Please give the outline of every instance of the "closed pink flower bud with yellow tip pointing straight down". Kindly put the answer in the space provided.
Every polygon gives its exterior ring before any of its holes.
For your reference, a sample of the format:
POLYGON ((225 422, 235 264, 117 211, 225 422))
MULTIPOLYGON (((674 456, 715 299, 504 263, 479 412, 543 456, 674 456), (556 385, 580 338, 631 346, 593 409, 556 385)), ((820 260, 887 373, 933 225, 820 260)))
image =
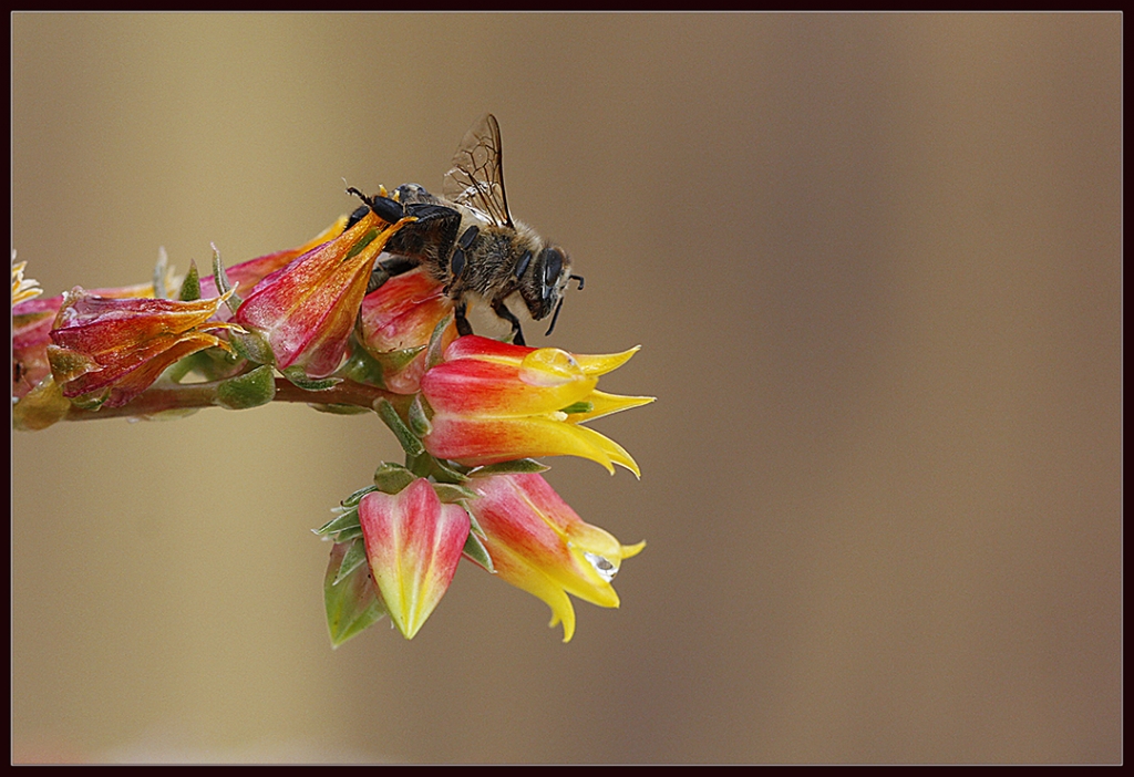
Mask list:
POLYGON ((413 639, 457 571, 468 513, 458 504, 442 504, 429 480, 420 478, 397 494, 364 496, 358 523, 390 618, 413 639))

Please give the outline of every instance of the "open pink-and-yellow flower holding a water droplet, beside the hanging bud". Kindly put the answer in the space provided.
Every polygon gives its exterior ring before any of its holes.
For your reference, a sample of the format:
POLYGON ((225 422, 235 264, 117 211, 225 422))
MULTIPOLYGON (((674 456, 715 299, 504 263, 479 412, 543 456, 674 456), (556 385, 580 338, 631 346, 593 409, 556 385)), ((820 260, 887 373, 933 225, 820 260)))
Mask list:
POLYGON ((479 495, 467 506, 496 573, 551 607, 550 625, 564 624, 564 642, 575 633, 568 594, 600 607, 618 606, 610 581, 644 541, 621 545, 584 522, 536 473, 474 475, 466 485, 479 495))

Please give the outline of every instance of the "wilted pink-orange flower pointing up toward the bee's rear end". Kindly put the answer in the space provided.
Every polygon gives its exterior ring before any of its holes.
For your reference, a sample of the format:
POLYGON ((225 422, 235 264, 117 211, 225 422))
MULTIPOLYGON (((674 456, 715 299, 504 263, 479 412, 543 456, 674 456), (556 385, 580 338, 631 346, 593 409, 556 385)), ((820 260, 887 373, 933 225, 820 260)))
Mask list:
POLYGON ((388 224, 373 212, 346 232, 264 278, 232 317, 256 332, 285 375, 318 379, 346 353, 375 257, 404 222, 388 224))

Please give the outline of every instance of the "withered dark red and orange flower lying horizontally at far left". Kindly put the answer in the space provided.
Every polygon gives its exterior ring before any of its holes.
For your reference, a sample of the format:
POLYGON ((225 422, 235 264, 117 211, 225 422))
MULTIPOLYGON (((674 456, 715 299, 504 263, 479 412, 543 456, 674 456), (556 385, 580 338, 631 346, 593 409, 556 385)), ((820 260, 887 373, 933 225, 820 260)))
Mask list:
POLYGON ((46 347, 54 382, 81 407, 126 404, 175 361, 229 350, 211 331, 234 326, 210 321, 226 298, 108 298, 76 287, 64 294, 46 347))

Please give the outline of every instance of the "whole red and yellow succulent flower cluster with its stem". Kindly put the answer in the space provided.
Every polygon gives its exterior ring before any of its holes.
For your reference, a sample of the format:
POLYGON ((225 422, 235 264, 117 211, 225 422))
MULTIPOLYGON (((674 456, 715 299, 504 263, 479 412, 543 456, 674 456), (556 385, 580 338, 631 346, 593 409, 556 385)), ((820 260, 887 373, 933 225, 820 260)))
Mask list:
POLYGON ((535 459, 576 455, 640 475, 625 449, 584 426, 652 401, 596 387, 637 349, 585 356, 458 336, 454 300, 424 267, 369 290, 411 221, 367 208, 228 270, 214 250, 210 276, 191 266, 175 283, 162 259, 150 284, 50 299, 36 298, 14 256, 14 425, 273 400, 376 412, 406 459, 382 462, 316 530, 332 543, 332 643, 386 615, 413 638, 463 557, 545 601, 568 641, 568 595, 617 607, 611 580, 645 544, 579 519, 535 459))

